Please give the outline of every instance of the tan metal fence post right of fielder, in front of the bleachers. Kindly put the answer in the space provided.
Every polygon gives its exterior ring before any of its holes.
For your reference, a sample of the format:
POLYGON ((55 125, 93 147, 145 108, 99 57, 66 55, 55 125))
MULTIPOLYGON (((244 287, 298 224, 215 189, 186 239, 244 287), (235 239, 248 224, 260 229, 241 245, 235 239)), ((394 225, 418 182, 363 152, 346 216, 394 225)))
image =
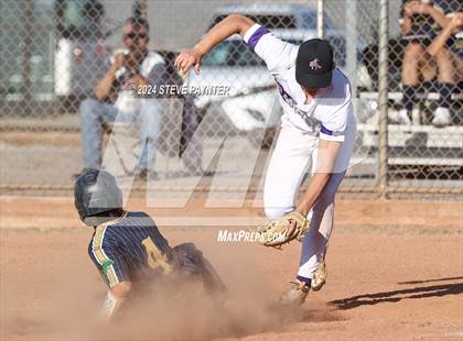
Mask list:
POLYGON ((388 29, 389 9, 388 0, 379 0, 379 132, 378 132, 378 158, 379 174, 378 187, 383 198, 387 196, 388 186, 388 29))

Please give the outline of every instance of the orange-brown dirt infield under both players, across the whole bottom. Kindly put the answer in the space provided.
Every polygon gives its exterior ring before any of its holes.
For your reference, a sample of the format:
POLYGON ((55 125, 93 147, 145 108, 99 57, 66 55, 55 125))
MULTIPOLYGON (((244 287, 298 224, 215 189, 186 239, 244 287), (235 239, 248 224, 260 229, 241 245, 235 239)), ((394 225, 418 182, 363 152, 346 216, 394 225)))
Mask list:
MULTIPOLYGON (((461 204, 337 202, 327 284, 295 311, 273 299, 294 275, 299 243, 277 251, 219 243, 217 228, 161 226, 172 245, 203 250, 228 285, 229 306, 217 309, 192 289, 160 295, 123 326, 101 327, 106 288, 86 254, 91 229, 82 228, 72 200, 0 199, 1 340, 463 340, 461 204)), ((205 211, 195 202, 151 213, 205 211)))

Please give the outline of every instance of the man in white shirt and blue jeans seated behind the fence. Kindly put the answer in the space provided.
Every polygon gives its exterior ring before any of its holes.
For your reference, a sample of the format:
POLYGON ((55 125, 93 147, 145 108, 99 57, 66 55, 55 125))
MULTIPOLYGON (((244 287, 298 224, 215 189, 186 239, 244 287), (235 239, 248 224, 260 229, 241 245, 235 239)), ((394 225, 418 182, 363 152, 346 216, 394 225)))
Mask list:
POLYGON ((129 18, 123 25, 126 51, 116 54, 105 65, 106 74, 95 88, 95 97, 79 108, 83 158, 86 168, 101 165, 101 123, 116 120, 139 123, 142 153, 139 176, 152 169, 160 131, 160 102, 157 98, 137 98, 133 89, 159 86, 169 81, 166 63, 161 55, 148 51, 149 23, 142 18, 129 18))

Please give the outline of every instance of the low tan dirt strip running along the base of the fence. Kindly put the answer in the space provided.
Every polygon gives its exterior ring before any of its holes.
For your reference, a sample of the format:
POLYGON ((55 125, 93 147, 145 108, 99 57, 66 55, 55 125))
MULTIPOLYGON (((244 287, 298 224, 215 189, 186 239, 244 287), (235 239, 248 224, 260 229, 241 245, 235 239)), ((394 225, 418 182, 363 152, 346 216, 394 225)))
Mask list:
MULTIPOLYGON (((127 205, 128 209, 143 210, 157 217, 160 226, 177 226, 172 221, 179 222, 180 218, 189 218, 195 227, 205 226, 224 217, 226 219, 263 217, 261 204, 257 206, 258 208, 254 207, 252 201, 245 201, 243 208, 239 209, 205 208, 203 198, 193 198, 183 208, 152 208, 147 207, 144 199, 140 197, 130 198, 127 205)), ((360 229, 370 226, 463 229, 462 204, 460 201, 336 200, 335 224, 360 229)), ((0 228, 51 230, 82 227, 72 197, 0 196, 0 228)))

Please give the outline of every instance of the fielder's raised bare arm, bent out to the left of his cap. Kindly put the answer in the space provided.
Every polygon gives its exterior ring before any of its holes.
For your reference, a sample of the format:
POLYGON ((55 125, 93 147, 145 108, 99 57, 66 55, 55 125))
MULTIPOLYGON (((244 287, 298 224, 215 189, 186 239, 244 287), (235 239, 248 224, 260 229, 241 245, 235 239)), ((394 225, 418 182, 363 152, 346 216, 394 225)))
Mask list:
POLYGON ((195 73, 198 74, 201 61, 215 45, 235 33, 244 36, 254 24, 252 20, 244 15, 228 15, 212 28, 193 48, 182 51, 175 59, 175 67, 186 74, 194 66, 195 73))

